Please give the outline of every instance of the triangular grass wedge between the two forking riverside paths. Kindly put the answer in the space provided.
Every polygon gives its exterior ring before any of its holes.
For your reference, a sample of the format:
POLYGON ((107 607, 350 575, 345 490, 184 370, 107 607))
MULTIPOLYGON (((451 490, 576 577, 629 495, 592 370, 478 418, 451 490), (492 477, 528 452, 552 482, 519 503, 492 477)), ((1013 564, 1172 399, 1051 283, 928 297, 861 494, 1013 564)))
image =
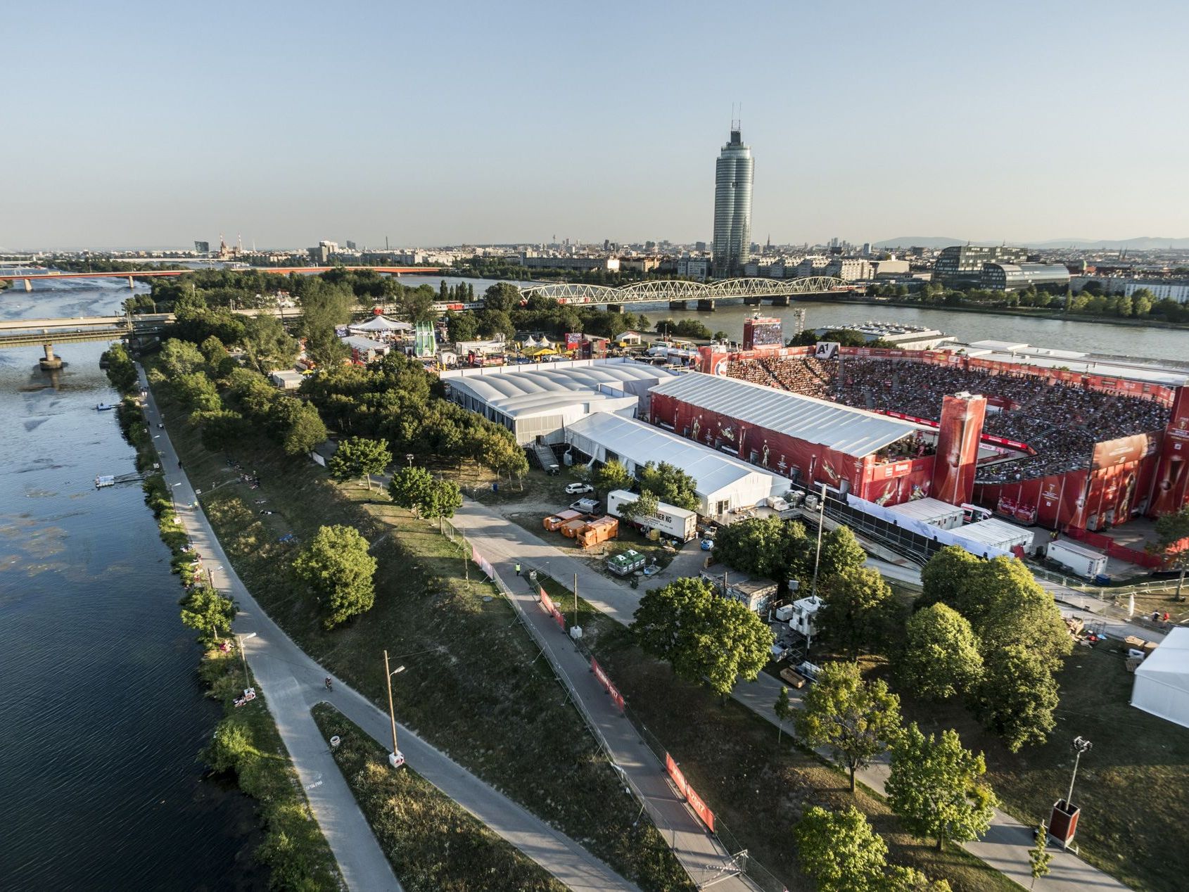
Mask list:
POLYGON ((314 706, 314 721, 327 741, 341 739, 334 761, 409 892, 565 892, 542 867, 415 771, 394 771, 388 750, 334 706, 314 706))

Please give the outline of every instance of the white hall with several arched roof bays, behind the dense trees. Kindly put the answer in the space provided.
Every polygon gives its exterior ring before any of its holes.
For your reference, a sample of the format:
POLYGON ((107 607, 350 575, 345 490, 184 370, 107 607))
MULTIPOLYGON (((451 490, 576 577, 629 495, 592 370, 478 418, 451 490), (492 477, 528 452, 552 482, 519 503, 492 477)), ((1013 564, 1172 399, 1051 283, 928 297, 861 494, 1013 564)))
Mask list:
POLYGON ((591 413, 634 417, 647 412, 649 388, 672 376, 617 358, 452 369, 441 379, 451 400, 503 425, 527 446, 564 442, 566 426, 591 413))

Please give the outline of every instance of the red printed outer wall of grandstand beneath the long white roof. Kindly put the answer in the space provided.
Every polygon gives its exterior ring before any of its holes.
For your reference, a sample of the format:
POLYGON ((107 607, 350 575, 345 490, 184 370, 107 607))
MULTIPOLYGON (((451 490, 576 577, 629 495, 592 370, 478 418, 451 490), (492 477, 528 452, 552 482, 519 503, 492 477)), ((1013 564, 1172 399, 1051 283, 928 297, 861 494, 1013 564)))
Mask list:
POLYGON ((653 394, 652 419, 675 433, 743 461, 810 483, 835 489, 845 485, 860 498, 879 504, 899 504, 929 495, 933 457, 876 463, 873 456, 849 456, 795 436, 741 423, 697 406, 653 394), (754 461, 753 461, 754 457, 754 461))

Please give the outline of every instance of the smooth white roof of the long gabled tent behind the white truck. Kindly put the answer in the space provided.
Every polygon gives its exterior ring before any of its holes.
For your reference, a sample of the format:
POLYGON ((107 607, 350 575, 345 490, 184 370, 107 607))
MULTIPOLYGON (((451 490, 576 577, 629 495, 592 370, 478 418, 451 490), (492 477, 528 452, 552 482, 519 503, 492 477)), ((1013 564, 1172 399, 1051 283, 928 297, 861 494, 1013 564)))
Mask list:
POLYGON ((763 482, 770 491, 779 479, 693 440, 622 415, 605 412, 587 415, 568 425, 566 432, 567 442, 571 433, 585 436, 640 467, 649 461, 668 461, 693 477, 698 496, 709 502, 715 501, 715 494, 741 480, 763 482))

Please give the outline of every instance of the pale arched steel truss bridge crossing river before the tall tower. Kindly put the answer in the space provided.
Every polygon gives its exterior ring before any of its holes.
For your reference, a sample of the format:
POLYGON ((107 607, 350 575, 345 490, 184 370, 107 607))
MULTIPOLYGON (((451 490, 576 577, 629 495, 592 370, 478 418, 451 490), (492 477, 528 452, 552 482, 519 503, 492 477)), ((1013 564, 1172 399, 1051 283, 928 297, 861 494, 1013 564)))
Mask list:
POLYGON ((761 300, 769 299, 773 306, 787 307, 794 295, 853 291, 856 288, 861 288, 861 285, 851 285, 831 276, 805 276, 789 279, 728 278, 710 284, 678 279, 649 279, 618 288, 566 282, 522 288, 521 294, 526 299, 535 295, 552 297, 559 303, 605 303, 609 307, 667 301, 669 309, 685 309, 691 301, 694 301, 698 309, 707 310, 713 309, 715 301, 718 300, 742 299, 744 303, 759 306, 761 300))

